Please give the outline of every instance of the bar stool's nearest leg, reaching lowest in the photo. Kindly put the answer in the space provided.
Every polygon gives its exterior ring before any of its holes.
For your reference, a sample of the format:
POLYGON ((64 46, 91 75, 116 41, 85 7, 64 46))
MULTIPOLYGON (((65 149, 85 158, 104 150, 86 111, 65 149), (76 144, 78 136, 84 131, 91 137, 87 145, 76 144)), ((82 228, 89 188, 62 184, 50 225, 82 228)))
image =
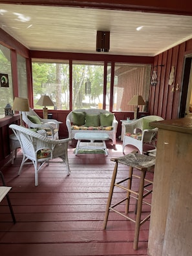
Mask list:
POLYGON ((139 239, 139 233, 140 233, 140 221, 141 221, 141 215, 142 215, 142 201, 143 201, 146 171, 147 169, 142 169, 141 176, 140 176, 140 187, 138 191, 138 203, 137 203, 136 221, 135 221, 135 228, 134 228, 134 242, 133 242, 134 250, 138 249, 138 239, 139 239))

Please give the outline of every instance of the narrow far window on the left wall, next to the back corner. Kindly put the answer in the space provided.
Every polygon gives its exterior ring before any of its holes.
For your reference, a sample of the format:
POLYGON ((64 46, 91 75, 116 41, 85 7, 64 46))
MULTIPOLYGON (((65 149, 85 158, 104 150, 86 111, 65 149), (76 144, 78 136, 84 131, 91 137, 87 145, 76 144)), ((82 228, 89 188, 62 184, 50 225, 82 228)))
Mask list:
POLYGON ((17 54, 17 76, 19 97, 28 98, 26 59, 17 54))

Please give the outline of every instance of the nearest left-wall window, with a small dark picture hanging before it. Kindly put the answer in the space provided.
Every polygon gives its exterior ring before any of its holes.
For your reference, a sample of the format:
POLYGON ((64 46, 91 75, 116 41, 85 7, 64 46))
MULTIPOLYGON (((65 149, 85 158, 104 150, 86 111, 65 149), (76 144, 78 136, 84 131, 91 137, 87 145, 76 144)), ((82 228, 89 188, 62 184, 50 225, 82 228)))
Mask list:
POLYGON ((10 50, 3 45, 0 45, 0 73, 8 74, 8 87, 0 87, 1 101, 0 101, 0 118, 5 116, 5 107, 7 103, 13 103, 13 89, 12 89, 12 69, 10 61, 10 50))

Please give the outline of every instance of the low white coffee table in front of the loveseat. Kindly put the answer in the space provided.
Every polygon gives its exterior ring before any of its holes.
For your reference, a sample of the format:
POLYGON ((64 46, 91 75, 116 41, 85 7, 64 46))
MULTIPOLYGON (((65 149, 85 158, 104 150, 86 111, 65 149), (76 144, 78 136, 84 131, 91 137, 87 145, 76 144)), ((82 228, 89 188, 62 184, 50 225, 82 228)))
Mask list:
POLYGON ((108 155, 105 140, 109 140, 107 133, 76 133, 74 138, 78 140, 76 145, 76 155, 79 149, 101 149, 108 155), (81 140, 89 140, 90 142, 81 142, 81 140), (102 141, 102 142, 100 142, 102 141))

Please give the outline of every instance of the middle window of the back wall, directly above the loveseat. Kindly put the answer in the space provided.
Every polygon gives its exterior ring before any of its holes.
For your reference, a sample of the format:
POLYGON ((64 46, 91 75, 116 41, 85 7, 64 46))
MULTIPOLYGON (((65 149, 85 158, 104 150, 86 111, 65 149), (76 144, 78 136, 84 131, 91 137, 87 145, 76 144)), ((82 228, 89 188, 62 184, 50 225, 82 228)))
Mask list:
POLYGON ((103 63, 72 65, 72 109, 103 108, 103 63))

